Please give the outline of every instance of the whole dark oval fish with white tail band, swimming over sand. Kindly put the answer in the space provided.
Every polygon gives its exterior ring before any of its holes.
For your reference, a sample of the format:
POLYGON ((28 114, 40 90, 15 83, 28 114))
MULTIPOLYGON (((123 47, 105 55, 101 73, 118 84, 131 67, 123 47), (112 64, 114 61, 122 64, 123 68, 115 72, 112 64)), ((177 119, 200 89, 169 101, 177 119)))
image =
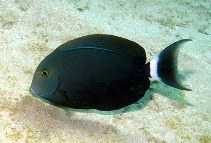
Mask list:
POLYGON ((191 39, 167 46, 150 62, 142 46, 108 34, 68 41, 37 66, 29 91, 61 108, 113 111, 140 100, 150 79, 173 88, 191 90, 180 81, 177 58, 191 39))

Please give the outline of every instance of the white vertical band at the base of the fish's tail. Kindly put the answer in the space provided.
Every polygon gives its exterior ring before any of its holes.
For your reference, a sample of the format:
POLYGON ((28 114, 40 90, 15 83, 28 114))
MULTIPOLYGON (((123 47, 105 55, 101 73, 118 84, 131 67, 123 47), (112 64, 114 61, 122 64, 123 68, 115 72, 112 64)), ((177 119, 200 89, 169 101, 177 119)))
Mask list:
POLYGON ((155 57, 150 61, 150 75, 152 77, 152 80, 161 81, 160 77, 158 77, 158 61, 159 56, 155 57))

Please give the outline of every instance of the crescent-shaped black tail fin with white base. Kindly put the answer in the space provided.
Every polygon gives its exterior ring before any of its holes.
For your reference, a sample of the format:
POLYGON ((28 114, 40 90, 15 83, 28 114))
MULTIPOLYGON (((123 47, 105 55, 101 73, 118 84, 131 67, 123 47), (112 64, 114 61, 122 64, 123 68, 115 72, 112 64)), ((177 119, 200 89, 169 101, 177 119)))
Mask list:
POLYGON ((155 80, 160 80, 172 87, 191 90, 185 87, 179 79, 177 58, 180 47, 190 39, 179 40, 168 47, 150 61, 150 75, 155 80))

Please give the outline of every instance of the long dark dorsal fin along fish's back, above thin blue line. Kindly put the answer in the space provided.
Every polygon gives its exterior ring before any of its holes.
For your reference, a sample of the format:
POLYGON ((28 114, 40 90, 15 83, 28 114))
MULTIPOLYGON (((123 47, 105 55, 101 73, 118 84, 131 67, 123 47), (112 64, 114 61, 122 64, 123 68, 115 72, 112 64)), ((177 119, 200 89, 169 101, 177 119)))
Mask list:
POLYGON ((139 44, 125 38, 106 34, 79 37, 59 46, 55 51, 77 47, 104 48, 125 55, 136 64, 145 64, 146 62, 145 50, 139 44))

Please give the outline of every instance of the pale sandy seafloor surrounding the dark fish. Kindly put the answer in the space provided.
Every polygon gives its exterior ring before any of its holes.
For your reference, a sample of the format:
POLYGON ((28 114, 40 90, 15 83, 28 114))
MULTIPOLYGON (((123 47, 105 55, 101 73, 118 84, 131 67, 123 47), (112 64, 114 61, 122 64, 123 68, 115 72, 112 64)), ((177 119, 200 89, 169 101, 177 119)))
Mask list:
POLYGON ((0 142, 211 142, 209 0, 0 0, 0 142), (114 34, 142 45, 148 61, 183 39, 179 72, 193 91, 152 82, 119 114, 66 113, 28 92, 39 62, 60 44, 114 34))

